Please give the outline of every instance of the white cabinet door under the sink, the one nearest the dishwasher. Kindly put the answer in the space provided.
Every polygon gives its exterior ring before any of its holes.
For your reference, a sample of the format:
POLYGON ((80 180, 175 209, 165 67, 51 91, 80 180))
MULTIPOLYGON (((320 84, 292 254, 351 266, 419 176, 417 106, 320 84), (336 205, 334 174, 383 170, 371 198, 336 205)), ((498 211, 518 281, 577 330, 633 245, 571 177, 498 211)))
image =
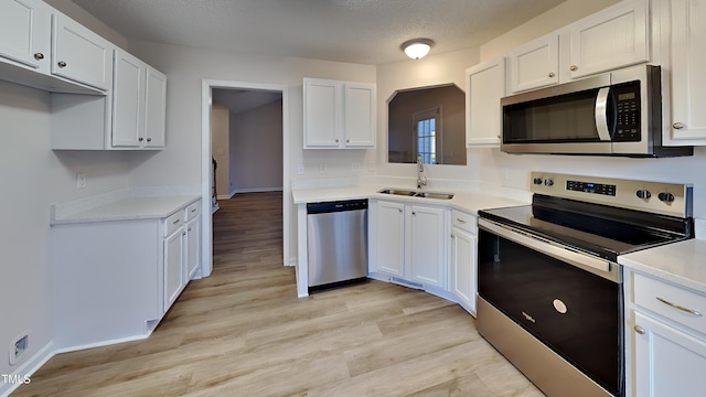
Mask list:
POLYGON ((405 276, 405 205, 377 202, 377 269, 387 275, 405 276))

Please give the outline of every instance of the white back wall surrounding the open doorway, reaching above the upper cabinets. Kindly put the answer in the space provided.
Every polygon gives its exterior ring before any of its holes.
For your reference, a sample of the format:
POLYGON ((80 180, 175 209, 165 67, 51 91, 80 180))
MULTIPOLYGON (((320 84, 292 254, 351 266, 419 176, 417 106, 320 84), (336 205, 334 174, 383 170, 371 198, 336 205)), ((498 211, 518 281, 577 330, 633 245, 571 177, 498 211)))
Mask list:
MULTIPOLYGON (((332 150, 302 149, 302 78, 331 78, 375 83, 375 66, 292 57, 274 57, 226 53, 207 49, 185 47, 148 42, 130 42, 129 51, 167 74, 167 148, 139 164, 129 173, 131 185, 184 185, 199 192, 201 186, 201 88, 203 79, 248 84, 272 84, 289 87, 288 178, 297 184, 312 179, 350 178, 351 158, 365 155, 364 150, 346 153, 332 150), (343 159, 343 161, 341 160, 343 159), (320 174, 318 164, 331 164, 320 174), (304 164, 304 175, 297 165, 304 164)), ((288 200, 290 197, 287 197, 288 200)), ((290 253, 297 255, 297 212, 290 207, 290 253)), ((285 260, 289 261, 288 258, 285 260)))

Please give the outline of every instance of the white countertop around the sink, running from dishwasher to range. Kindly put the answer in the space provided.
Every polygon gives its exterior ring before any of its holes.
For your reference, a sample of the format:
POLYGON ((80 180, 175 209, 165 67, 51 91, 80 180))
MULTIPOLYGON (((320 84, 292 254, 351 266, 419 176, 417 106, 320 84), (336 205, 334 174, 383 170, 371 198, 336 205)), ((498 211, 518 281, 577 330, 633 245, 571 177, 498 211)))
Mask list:
POLYGON ((339 200, 356 200, 356 198, 375 198, 375 200, 394 200, 410 203, 425 203, 435 205, 446 205, 451 208, 461 210, 477 214, 479 210, 499 208, 515 205, 525 205, 528 202, 512 200, 499 195, 466 192, 453 190, 436 190, 421 189, 422 192, 440 192, 453 193, 451 200, 425 198, 425 197, 407 197, 399 195, 391 195, 377 193, 378 190, 388 186, 362 185, 347 187, 324 187, 324 189, 296 189, 292 190, 295 204, 329 202, 339 200))

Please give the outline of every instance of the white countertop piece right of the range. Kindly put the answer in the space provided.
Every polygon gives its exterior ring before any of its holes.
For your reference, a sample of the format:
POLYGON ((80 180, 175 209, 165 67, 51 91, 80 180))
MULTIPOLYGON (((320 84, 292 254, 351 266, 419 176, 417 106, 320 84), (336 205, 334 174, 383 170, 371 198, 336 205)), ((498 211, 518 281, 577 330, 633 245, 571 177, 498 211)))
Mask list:
POLYGON ((706 240, 689 239, 618 257, 618 264, 706 293, 706 240))

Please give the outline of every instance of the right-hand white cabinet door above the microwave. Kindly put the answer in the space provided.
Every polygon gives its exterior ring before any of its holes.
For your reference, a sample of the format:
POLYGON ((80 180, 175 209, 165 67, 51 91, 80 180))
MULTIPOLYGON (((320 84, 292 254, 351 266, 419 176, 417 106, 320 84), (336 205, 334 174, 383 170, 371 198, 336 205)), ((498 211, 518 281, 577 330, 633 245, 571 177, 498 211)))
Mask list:
POLYGON ((623 1, 570 25, 570 78, 649 61, 646 0, 623 1))

